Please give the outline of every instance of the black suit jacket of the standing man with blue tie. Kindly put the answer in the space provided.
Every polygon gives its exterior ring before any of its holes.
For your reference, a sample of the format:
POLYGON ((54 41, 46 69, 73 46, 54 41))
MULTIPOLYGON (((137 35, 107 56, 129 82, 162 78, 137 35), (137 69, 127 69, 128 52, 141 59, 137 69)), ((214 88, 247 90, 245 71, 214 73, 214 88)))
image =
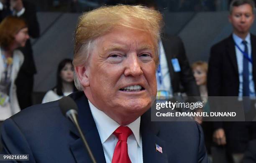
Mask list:
MULTIPOLYGON (((253 60, 253 80, 255 81, 256 36, 252 34, 251 49, 253 60)), ((232 35, 213 45, 210 50, 207 88, 209 96, 238 96, 239 74, 235 42, 232 35)), ((232 103, 227 103, 226 101, 223 101, 223 99, 219 99, 217 105, 214 105, 214 107, 213 105, 210 105, 211 110, 215 109, 216 111, 220 111, 220 108, 222 108, 221 110, 236 110, 243 114, 243 110, 241 112, 242 106, 237 107, 241 105, 241 103, 236 100, 236 97, 234 97, 232 103)), ((209 102, 211 104, 210 99, 211 98, 209 98, 209 102)), ((240 113, 239 115, 241 115, 240 113)), ((246 132, 246 124, 247 123, 243 122, 222 122, 220 120, 213 123, 213 129, 216 130, 218 128, 223 128, 227 137, 227 148, 231 151, 241 153, 246 148, 246 140, 251 137, 251 135, 248 135, 249 133, 246 132), (238 144, 232 143, 233 140, 239 140, 238 144)))

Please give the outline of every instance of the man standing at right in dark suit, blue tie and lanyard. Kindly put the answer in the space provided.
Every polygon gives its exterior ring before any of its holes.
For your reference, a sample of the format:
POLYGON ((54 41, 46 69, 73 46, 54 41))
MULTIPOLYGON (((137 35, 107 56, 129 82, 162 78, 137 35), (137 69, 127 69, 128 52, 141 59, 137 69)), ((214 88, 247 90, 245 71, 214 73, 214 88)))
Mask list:
MULTIPOLYGON (((236 96, 233 103, 243 105, 245 115, 251 114, 247 108, 255 110, 254 100, 246 102, 255 98, 256 37, 249 33, 254 21, 254 7, 252 0, 233 0, 231 3, 229 21, 233 25, 233 34, 212 46, 207 78, 209 96, 236 96), (250 103, 252 106, 247 106, 250 103)), ((227 144, 229 153, 241 156, 248 141, 256 137, 255 123, 251 122, 215 122, 214 128, 214 141, 218 145, 227 144)))

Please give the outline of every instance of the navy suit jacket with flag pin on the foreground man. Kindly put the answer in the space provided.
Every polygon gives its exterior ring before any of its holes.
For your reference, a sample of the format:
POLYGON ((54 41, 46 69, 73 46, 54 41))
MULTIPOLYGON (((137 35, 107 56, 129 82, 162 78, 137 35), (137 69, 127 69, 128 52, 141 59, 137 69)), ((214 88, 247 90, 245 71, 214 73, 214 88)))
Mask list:
MULTIPOLYGON (((98 163, 105 162, 100 136, 83 92, 73 93, 78 121, 98 163)), ((141 116, 144 163, 207 163, 204 138, 195 122, 151 122, 141 116), (156 151, 156 144, 163 153, 156 151)), ((89 155, 73 123, 61 114, 59 102, 35 105, 5 120, 3 153, 29 154, 30 163, 87 163, 89 155)), ((24 162, 25 163, 25 162, 24 162)))

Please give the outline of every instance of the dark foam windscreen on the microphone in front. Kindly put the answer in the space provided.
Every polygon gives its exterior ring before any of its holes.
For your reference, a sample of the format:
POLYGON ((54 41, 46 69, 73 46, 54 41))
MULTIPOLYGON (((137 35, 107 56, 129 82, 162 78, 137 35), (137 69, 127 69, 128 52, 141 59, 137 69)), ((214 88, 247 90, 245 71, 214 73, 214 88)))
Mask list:
POLYGON ((69 110, 76 110, 77 111, 77 104, 74 102, 74 100, 69 97, 65 96, 59 100, 59 107, 61 109, 61 113, 66 116, 66 113, 69 110))

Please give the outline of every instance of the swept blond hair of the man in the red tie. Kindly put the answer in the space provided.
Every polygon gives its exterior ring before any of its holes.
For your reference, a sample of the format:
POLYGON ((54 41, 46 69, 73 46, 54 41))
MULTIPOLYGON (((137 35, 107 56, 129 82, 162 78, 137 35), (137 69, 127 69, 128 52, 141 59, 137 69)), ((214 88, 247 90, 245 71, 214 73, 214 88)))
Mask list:
MULTIPOLYGON (((158 56, 162 26, 163 18, 158 11, 139 5, 104 6, 84 13, 79 17, 75 30, 73 65, 86 64, 92 41, 118 27, 133 28, 150 34, 154 39, 155 54, 158 56)), ((158 64, 158 62, 156 57, 155 63, 158 64)), ((77 89, 82 90, 76 73, 74 81, 77 89)))

